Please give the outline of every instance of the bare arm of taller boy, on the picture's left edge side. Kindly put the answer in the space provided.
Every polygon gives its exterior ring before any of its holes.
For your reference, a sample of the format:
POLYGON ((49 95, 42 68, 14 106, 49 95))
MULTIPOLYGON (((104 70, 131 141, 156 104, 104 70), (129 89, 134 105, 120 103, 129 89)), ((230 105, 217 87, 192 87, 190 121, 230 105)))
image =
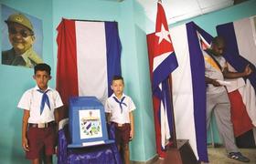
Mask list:
POLYGON ((29 151, 28 141, 27 141, 27 121, 29 118, 29 110, 24 110, 22 119, 22 148, 29 151))

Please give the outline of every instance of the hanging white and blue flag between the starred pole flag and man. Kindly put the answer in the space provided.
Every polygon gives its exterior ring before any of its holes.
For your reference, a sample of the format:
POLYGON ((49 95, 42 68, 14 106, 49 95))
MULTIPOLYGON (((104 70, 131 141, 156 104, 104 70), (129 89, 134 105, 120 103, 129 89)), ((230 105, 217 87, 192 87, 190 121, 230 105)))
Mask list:
MULTIPOLYGON (((154 52, 150 46, 153 36, 147 36, 149 52, 154 52)), ((202 51, 209 46, 213 37, 193 22, 171 28, 171 37, 178 63, 172 72, 176 138, 188 139, 197 160, 208 162, 205 63, 202 51)))

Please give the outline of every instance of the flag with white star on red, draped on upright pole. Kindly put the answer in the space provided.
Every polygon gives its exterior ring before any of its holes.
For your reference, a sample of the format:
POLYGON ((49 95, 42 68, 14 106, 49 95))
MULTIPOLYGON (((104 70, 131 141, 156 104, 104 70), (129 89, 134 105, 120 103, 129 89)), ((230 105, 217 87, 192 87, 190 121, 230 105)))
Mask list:
POLYGON ((155 33, 147 37, 154 101, 156 150, 160 157, 165 157, 165 146, 169 144, 174 130, 169 76, 178 65, 161 2, 157 3, 155 33))

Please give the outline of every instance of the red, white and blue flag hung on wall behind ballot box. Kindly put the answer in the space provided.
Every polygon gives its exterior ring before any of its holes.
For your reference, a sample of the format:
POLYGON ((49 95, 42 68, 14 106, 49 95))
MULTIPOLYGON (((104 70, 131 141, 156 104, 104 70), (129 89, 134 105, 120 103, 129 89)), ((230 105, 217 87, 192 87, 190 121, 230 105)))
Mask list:
POLYGON ((94 96, 104 104, 121 75, 121 42, 116 22, 62 19, 58 28, 57 90, 68 117, 71 96, 94 96))

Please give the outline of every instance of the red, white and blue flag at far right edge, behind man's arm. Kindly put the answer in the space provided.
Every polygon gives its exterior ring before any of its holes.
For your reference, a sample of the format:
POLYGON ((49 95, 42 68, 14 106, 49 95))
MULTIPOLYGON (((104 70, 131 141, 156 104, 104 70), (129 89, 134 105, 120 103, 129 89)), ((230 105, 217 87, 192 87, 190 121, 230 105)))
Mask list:
MULTIPOLYGON (((217 26, 219 36, 226 41, 224 57, 232 71, 243 72, 250 65, 249 77, 232 79, 227 87, 231 103, 235 137, 253 128, 256 140, 256 17, 251 16, 235 22, 217 26)), ((254 141, 255 142, 255 141, 254 141)))

